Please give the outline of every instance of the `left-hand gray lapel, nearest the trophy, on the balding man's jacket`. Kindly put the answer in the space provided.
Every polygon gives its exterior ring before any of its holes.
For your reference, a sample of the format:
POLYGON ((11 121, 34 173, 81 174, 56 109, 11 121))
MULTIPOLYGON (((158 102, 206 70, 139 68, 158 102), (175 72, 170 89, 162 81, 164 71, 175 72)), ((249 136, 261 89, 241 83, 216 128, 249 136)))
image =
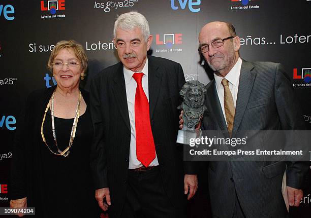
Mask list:
POLYGON ((209 89, 207 90, 208 99, 205 99, 205 102, 210 101, 210 107, 215 115, 216 123, 219 125, 220 129, 223 131, 226 137, 229 137, 229 132, 226 124, 226 120, 223 115, 222 106, 219 101, 219 97, 216 91, 216 83, 213 80, 212 84, 210 85, 209 89))

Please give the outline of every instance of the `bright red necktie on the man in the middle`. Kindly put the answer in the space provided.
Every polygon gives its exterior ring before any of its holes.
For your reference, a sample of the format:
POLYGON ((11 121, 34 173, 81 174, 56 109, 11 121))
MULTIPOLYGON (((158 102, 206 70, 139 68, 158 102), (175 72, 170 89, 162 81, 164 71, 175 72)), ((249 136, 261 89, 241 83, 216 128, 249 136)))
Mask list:
POLYGON ((135 73, 134 80, 137 83, 135 94, 135 130, 136 130, 136 156, 145 166, 155 158, 155 147, 150 125, 149 102, 142 88, 143 73, 135 73))

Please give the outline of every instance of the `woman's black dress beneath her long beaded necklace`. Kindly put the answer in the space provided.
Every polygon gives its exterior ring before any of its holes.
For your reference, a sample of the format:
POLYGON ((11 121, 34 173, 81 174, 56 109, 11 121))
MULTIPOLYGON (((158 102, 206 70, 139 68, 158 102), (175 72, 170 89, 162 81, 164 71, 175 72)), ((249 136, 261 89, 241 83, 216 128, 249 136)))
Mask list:
MULTIPOLYGON (((74 119, 54 117, 58 148, 64 151, 69 145, 74 119)), ((52 135, 51 112, 46 114, 43 126, 46 142, 56 152, 52 135)), ((42 143, 40 147, 43 190, 48 217, 99 217, 89 164, 93 129, 88 107, 79 117, 75 139, 68 157, 56 156, 42 143)))

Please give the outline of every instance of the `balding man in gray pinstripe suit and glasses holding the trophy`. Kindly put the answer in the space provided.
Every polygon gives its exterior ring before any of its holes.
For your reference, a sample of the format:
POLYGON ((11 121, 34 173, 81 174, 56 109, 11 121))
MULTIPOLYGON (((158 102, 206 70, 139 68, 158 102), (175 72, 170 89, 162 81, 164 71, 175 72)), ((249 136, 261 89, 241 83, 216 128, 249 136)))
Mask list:
MULTIPOLYGON (((214 71, 214 80, 206 85, 208 113, 201 129, 220 130, 228 138, 240 130, 296 130, 303 125, 291 81, 281 64, 242 60, 240 39, 232 24, 206 24, 199 42, 200 53, 214 71)), ((182 128, 182 119, 180 124, 182 128)), ((287 217, 281 193, 285 170, 285 201, 298 206, 307 163, 210 161, 208 185, 213 217, 287 217)))

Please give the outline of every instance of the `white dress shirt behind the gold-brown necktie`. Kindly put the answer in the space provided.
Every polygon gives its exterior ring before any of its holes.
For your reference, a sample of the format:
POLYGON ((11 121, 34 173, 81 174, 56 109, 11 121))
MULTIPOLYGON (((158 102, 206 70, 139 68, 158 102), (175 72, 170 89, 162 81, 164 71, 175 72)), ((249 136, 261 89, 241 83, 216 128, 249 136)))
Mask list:
MULTIPOLYGON (((239 89, 241 66, 242 66, 242 59, 238 58, 237 62, 233 66, 233 68, 228 72, 228 74, 225 77, 225 79, 227 79, 229 81, 229 89, 230 89, 231 94, 232 94, 232 98, 233 98, 233 102, 234 102, 234 107, 236 106, 236 99, 237 99, 237 94, 238 94, 238 89, 239 89)), ((219 76, 217 76, 215 74, 214 74, 214 78, 215 78, 216 90, 217 90, 218 98, 219 98, 219 101, 220 101, 221 106, 222 106, 223 115, 224 115, 226 124, 228 126, 227 119, 226 119, 226 114, 225 114, 225 106, 224 106, 225 90, 224 90, 224 86, 222 84, 222 80, 224 78, 223 77, 219 77, 219 76)))

